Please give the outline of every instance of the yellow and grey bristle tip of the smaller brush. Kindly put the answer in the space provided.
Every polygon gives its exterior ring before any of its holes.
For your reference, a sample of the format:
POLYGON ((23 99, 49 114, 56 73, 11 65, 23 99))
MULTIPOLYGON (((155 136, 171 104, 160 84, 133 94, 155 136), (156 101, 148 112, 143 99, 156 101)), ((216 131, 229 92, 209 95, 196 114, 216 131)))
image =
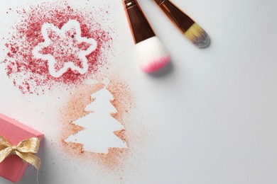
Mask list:
POLYGON ((207 35, 205 30, 203 30, 197 23, 190 26, 190 28, 185 32, 185 37, 200 48, 205 48, 210 45, 209 35, 207 35))

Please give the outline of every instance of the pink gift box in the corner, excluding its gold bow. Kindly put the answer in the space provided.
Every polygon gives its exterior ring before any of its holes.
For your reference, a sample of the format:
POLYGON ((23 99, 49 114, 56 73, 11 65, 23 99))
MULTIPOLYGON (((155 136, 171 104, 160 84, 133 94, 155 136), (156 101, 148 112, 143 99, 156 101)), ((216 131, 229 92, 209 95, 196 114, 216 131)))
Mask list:
MULTIPOLYGON (((38 137, 40 141, 43 139, 42 133, 11 119, 11 117, 2 115, 1 113, 0 134, 13 145, 17 145, 19 142, 25 139, 31 139, 32 137, 38 137)), ((27 167, 28 163, 24 163, 22 159, 16 155, 10 155, 0 163, 0 176, 16 183, 21 180, 27 167)))

